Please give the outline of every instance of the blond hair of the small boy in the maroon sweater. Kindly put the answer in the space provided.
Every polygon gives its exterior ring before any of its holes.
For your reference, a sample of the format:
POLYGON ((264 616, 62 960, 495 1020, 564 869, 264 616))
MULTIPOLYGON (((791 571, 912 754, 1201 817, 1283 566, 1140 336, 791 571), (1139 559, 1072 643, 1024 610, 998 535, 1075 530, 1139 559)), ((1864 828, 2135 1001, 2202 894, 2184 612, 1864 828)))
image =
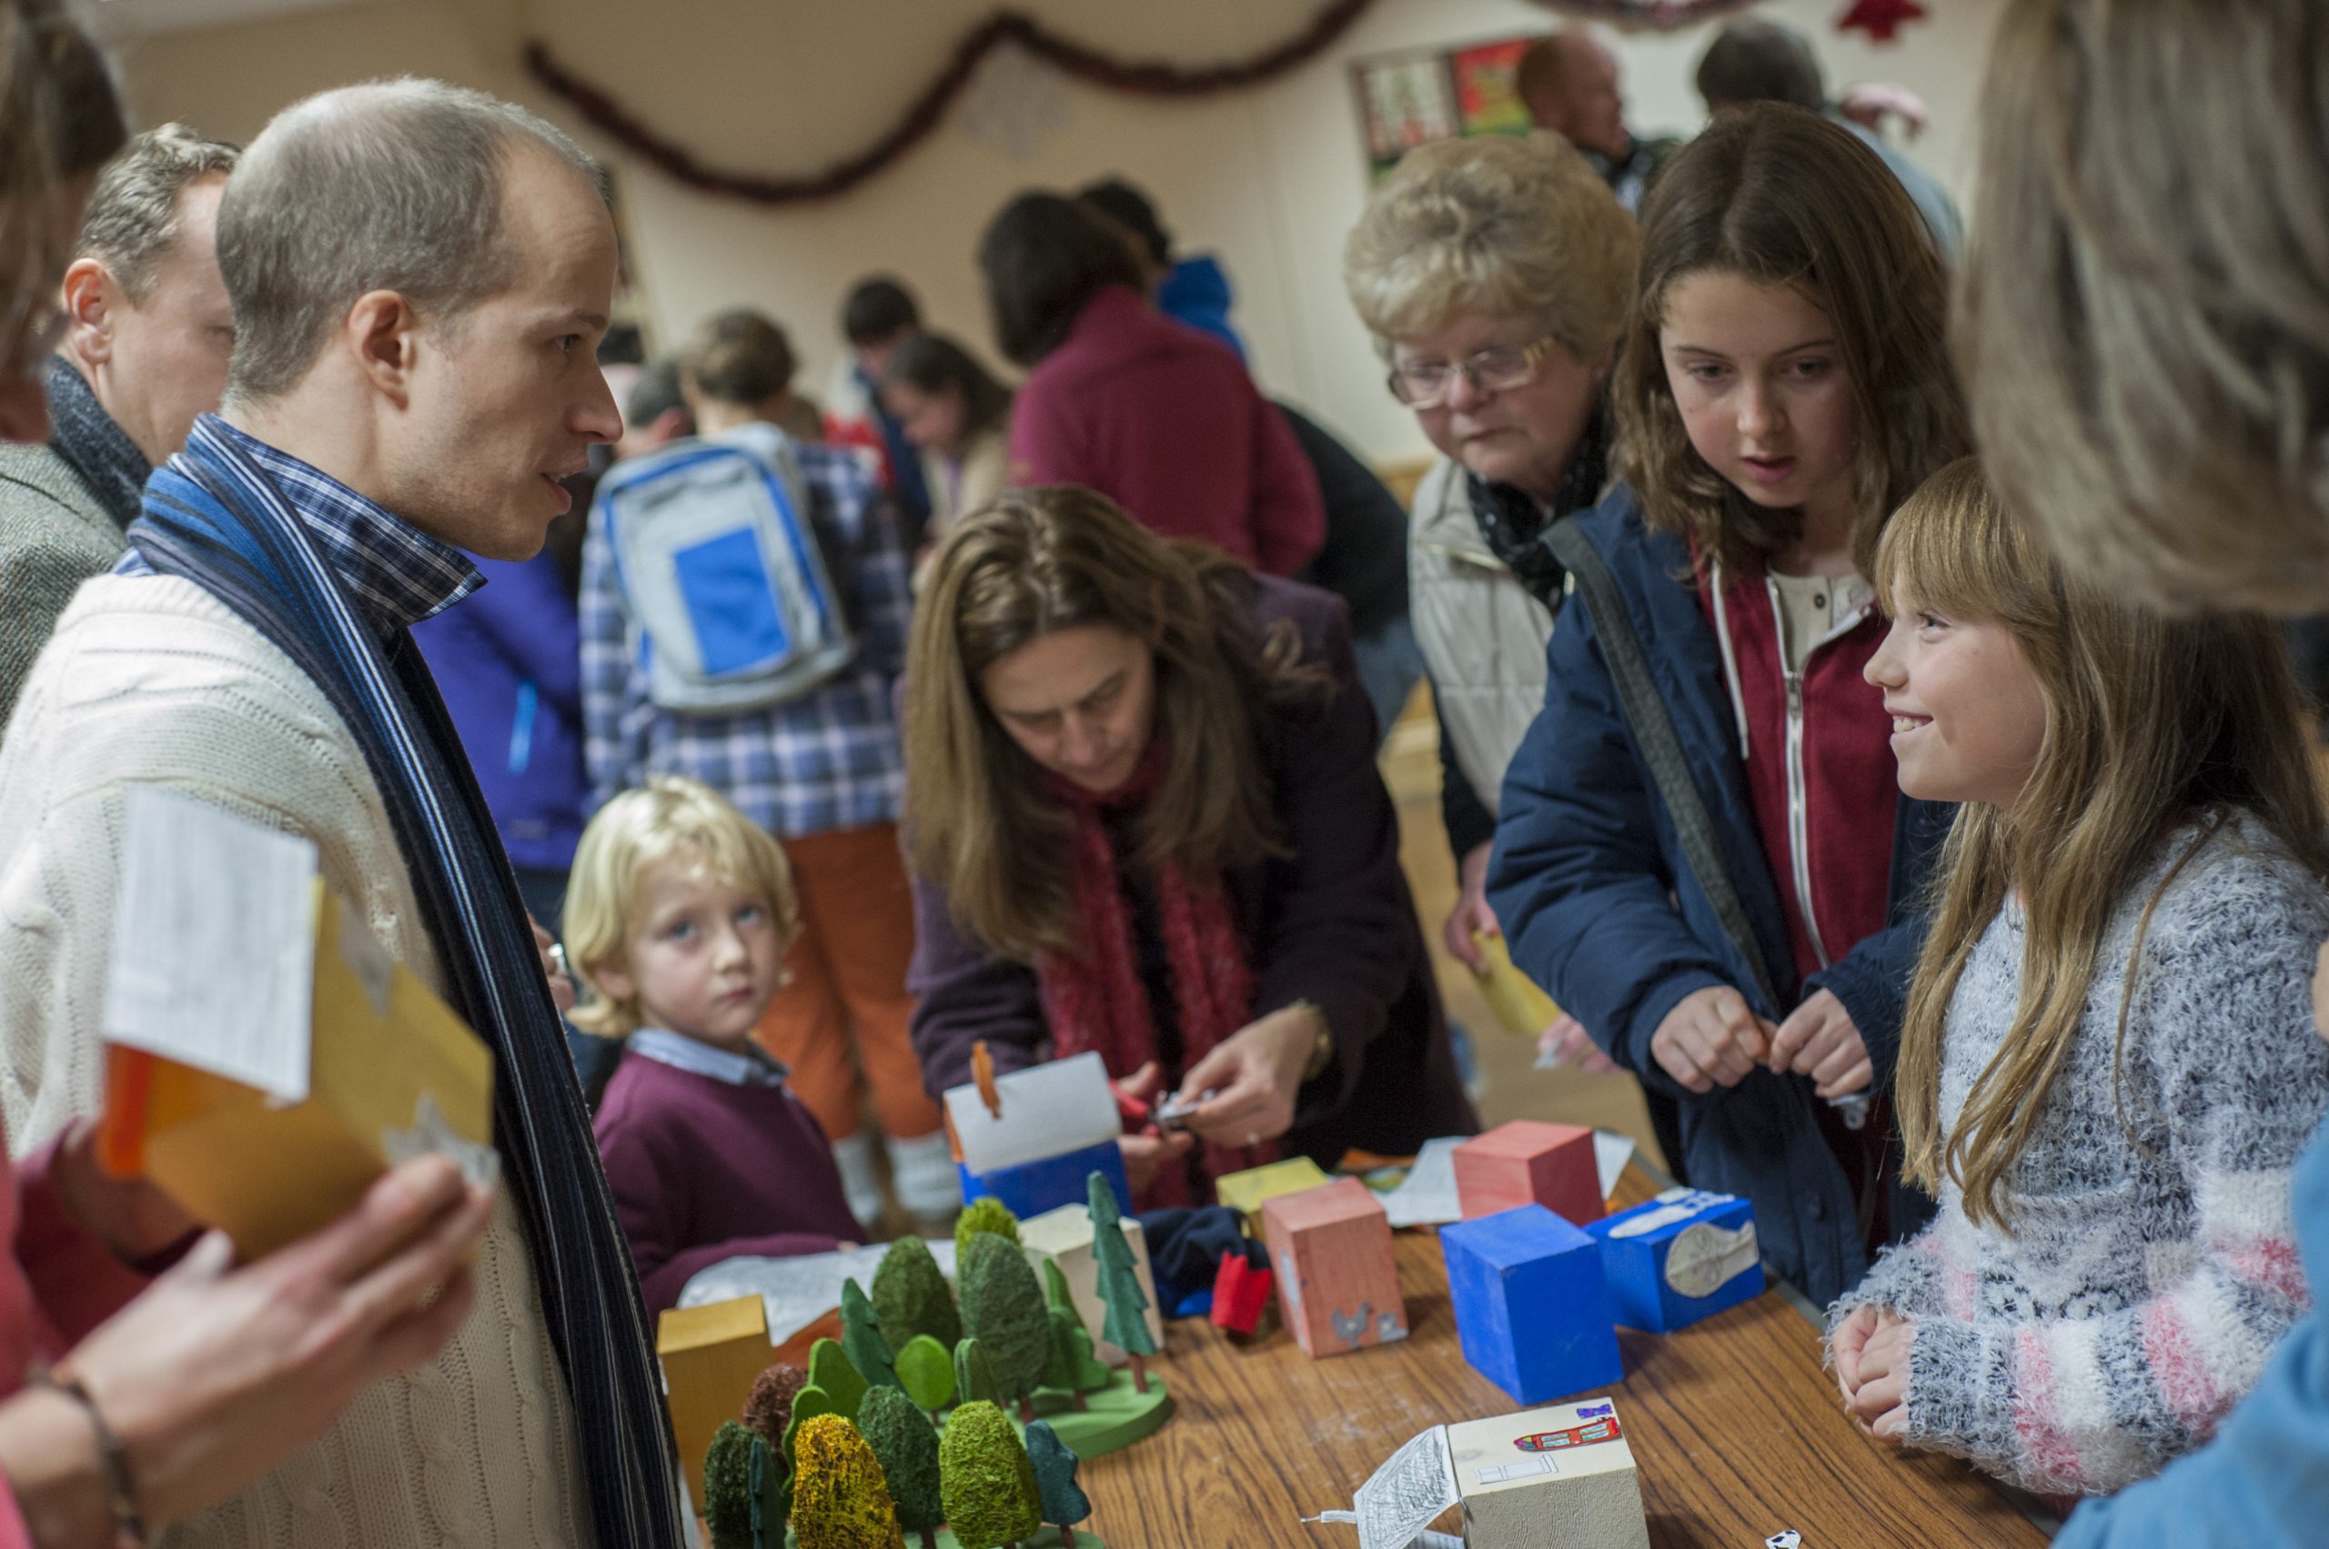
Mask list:
POLYGON ((582 1032, 624 1039, 638 1030, 638 1002, 610 997, 592 969, 622 960, 638 927, 638 878, 673 855, 766 899, 778 939, 792 946, 801 911, 785 848, 710 785, 650 776, 643 787, 601 806, 575 848, 566 887, 566 957, 589 999, 568 1020, 582 1032))

